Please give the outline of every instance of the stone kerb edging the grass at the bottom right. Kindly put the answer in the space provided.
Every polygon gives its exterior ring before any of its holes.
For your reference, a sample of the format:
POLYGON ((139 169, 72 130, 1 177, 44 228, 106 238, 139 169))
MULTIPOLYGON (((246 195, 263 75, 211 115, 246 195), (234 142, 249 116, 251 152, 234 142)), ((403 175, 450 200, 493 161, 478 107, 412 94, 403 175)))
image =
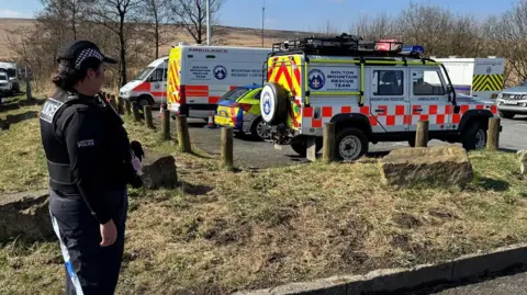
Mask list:
POLYGON ((412 269, 377 270, 365 275, 333 276, 266 290, 243 291, 234 293, 234 295, 352 295, 412 291, 489 276, 526 264, 527 243, 519 243, 502 247, 489 253, 463 256, 439 264, 423 264, 412 269))

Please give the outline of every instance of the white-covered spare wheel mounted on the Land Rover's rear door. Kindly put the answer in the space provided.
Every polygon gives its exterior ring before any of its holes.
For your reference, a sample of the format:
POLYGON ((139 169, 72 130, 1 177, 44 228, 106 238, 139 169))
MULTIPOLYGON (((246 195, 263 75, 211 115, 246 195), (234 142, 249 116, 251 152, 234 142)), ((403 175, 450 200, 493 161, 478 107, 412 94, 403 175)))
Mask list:
POLYGON ((267 82, 260 94, 261 117, 268 125, 278 125, 288 118, 289 100, 278 83, 267 82))

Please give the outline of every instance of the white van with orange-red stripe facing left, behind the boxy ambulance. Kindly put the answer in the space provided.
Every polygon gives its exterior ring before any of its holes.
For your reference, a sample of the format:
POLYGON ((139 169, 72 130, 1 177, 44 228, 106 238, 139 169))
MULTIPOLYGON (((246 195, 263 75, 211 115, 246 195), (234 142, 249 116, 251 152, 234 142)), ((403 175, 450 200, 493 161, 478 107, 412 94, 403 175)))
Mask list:
POLYGON ((167 102, 168 57, 152 61, 130 82, 119 90, 124 100, 137 101, 139 110, 144 105, 160 105, 167 102))

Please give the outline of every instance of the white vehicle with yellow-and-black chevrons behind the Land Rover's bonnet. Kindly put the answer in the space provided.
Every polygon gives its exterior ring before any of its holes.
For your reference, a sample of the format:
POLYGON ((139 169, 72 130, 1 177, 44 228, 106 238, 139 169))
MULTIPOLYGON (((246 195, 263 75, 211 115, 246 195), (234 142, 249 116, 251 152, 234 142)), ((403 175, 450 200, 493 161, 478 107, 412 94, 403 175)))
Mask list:
POLYGON ((458 93, 495 99, 503 90, 504 58, 430 58, 445 65, 458 93))

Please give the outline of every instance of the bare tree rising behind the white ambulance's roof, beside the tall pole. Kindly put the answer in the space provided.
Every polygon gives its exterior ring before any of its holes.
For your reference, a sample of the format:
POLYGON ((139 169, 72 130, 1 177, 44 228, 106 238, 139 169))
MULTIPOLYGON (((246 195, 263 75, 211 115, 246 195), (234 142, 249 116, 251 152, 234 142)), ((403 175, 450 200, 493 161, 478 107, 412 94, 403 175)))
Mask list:
MULTIPOLYGON (((210 0, 212 31, 218 24, 217 12, 224 3, 225 0, 210 0)), ((172 21, 181 25, 195 43, 202 44, 206 36, 205 0, 169 0, 169 7, 172 21)))

